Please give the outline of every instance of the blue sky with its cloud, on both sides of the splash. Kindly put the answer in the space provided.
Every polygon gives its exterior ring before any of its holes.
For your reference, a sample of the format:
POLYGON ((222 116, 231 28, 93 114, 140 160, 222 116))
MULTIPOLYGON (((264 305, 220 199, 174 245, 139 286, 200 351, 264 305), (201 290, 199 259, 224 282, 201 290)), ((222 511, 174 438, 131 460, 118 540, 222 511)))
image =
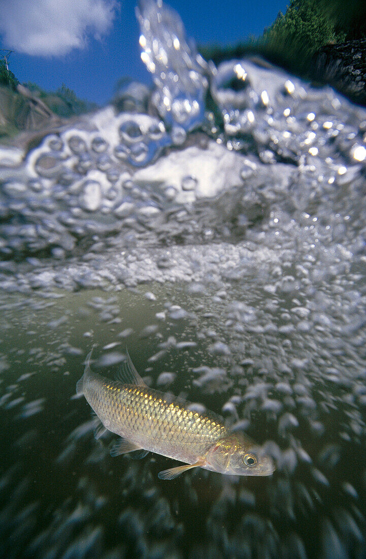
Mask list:
MULTIPOLYGON (((200 44, 235 44, 260 35, 289 0, 170 0, 200 44)), ((21 83, 61 84, 102 105, 118 78, 150 83, 140 60, 135 0, 0 0, 0 48, 21 83)))

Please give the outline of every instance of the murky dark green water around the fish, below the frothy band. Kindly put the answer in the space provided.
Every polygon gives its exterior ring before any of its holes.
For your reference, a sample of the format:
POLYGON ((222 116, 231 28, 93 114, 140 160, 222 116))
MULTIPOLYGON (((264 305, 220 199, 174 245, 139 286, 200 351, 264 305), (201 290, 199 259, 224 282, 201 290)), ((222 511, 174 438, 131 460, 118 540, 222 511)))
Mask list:
POLYGON ((240 302, 249 320, 260 291, 234 287, 1 296, 2 556, 364 557, 364 377, 321 375, 325 356, 307 358, 313 336, 300 354, 269 318, 240 331, 237 310, 230 323, 225 309, 240 302), (112 458, 112 436, 94 439, 91 409, 74 396, 92 343, 103 375, 127 343, 151 386, 244 420, 253 438, 272 440, 277 471, 161 481, 168 458, 112 458), (276 356, 296 355, 273 370, 276 356))

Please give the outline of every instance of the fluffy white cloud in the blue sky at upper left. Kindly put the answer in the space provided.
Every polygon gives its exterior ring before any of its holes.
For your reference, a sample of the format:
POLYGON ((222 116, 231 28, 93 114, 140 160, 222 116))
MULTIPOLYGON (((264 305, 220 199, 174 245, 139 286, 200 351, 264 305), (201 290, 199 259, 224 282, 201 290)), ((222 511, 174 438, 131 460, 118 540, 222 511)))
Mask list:
POLYGON ((82 49, 110 31, 117 8, 116 0, 0 0, 3 46, 40 56, 82 49))

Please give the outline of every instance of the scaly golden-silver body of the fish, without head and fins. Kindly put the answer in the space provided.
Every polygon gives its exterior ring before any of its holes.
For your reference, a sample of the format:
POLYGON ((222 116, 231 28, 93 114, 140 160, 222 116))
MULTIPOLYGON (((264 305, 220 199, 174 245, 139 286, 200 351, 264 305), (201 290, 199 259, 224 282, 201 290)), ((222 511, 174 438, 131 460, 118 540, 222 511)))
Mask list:
POLYGON ((223 419, 169 402, 158 390, 141 390, 96 373, 89 373, 83 390, 108 430, 169 458, 196 460, 227 434, 223 419))

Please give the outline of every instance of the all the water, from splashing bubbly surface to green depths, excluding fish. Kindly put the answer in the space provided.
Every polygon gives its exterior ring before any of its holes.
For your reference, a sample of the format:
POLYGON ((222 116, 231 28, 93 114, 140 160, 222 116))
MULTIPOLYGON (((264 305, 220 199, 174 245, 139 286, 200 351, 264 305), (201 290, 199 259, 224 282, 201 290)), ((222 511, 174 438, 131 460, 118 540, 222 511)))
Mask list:
POLYGON ((136 84, 130 113, 0 149, 2 555, 365 557, 366 112, 138 17, 149 114, 136 84), (112 458, 75 397, 93 343, 274 475, 112 458))

